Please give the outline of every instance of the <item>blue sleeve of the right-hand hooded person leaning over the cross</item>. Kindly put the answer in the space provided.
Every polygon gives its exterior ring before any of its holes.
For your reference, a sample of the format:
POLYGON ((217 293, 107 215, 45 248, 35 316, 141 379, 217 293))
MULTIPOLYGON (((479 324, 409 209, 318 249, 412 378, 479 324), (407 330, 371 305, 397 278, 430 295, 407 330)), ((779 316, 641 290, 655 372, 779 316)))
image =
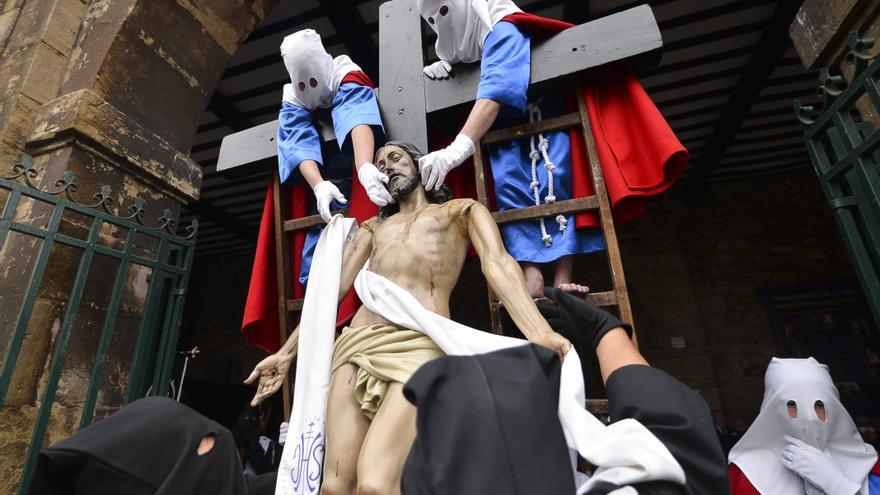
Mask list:
POLYGON ((507 21, 495 24, 483 44, 477 99, 495 100, 525 113, 531 55, 528 36, 507 21))

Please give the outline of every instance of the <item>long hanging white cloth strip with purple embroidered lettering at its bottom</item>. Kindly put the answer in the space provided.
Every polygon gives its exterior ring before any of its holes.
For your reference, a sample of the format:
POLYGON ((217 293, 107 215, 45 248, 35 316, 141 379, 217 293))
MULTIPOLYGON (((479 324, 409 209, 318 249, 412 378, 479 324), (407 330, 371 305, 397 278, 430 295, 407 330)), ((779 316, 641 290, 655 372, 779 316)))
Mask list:
POLYGON ((293 409, 278 467, 277 495, 320 493, 324 466, 327 394, 336 336, 336 301, 342 275, 342 248, 357 231, 353 218, 334 215, 315 248, 299 324, 293 409))

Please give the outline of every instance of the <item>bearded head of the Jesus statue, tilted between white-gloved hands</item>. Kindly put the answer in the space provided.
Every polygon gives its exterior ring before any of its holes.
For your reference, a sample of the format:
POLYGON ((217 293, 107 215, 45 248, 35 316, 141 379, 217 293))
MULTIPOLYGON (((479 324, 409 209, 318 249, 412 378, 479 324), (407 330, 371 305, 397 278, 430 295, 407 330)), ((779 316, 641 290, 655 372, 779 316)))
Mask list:
MULTIPOLYGON (((388 218, 400 211, 397 203, 417 188, 424 191, 418 165, 421 157, 418 148, 399 141, 389 141, 376 152, 376 167, 388 175, 388 192, 395 200, 379 209, 379 218, 388 218)), ((436 191, 425 191, 425 196, 431 203, 445 203, 452 199, 452 190, 444 184, 436 191)))

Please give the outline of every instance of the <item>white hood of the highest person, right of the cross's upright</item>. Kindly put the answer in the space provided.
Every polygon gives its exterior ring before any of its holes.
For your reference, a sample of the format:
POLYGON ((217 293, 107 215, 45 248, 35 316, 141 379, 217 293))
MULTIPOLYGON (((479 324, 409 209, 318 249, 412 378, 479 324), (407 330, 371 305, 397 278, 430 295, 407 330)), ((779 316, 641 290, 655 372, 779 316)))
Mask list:
POLYGON ((483 58, 483 42, 492 27, 505 16, 522 12, 511 0, 416 0, 416 4, 437 33, 437 56, 450 64, 483 58))

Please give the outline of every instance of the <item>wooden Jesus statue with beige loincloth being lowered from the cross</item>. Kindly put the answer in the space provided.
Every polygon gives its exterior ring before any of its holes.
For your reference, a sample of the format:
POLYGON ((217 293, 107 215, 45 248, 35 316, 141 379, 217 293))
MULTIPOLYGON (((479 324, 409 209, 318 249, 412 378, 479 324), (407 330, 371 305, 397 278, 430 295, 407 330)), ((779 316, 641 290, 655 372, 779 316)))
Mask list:
MULTIPOLYGON (((450 199, 445 186, 426 192, 417 165, 421 156, 399 142, 376 153, 395 203, 364 222, 345 246, 339 300, 369 259, 370 271, 449 318, 449 296, 473 244, 489 286, 523 335, 563 356, 571 343, 538 312, 489 210, 471 199, 450 199)), ((260 378, 253 404, 287 379, 297 336, 293 332, 281 350, 254 368, 246 381, 260 378)), ((333 348, 322 493, 400 493, 401 471, 416 434, 416 409, 404 398, 403 384, 442 355, 426 335, 360 308, 333 348)))

